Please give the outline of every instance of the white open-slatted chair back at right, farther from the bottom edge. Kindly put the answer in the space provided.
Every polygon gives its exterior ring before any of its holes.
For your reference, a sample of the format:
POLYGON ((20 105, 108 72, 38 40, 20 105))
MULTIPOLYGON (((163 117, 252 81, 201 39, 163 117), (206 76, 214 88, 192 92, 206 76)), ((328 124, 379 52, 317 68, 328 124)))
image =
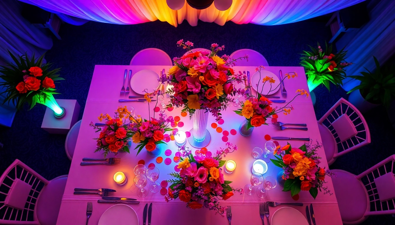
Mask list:
POLYGON ((333 158, 346 154, 371 142, 369 127, 362 114, 347 100, 341 98, 318 121, 335 138, 337 151, 333 158))

